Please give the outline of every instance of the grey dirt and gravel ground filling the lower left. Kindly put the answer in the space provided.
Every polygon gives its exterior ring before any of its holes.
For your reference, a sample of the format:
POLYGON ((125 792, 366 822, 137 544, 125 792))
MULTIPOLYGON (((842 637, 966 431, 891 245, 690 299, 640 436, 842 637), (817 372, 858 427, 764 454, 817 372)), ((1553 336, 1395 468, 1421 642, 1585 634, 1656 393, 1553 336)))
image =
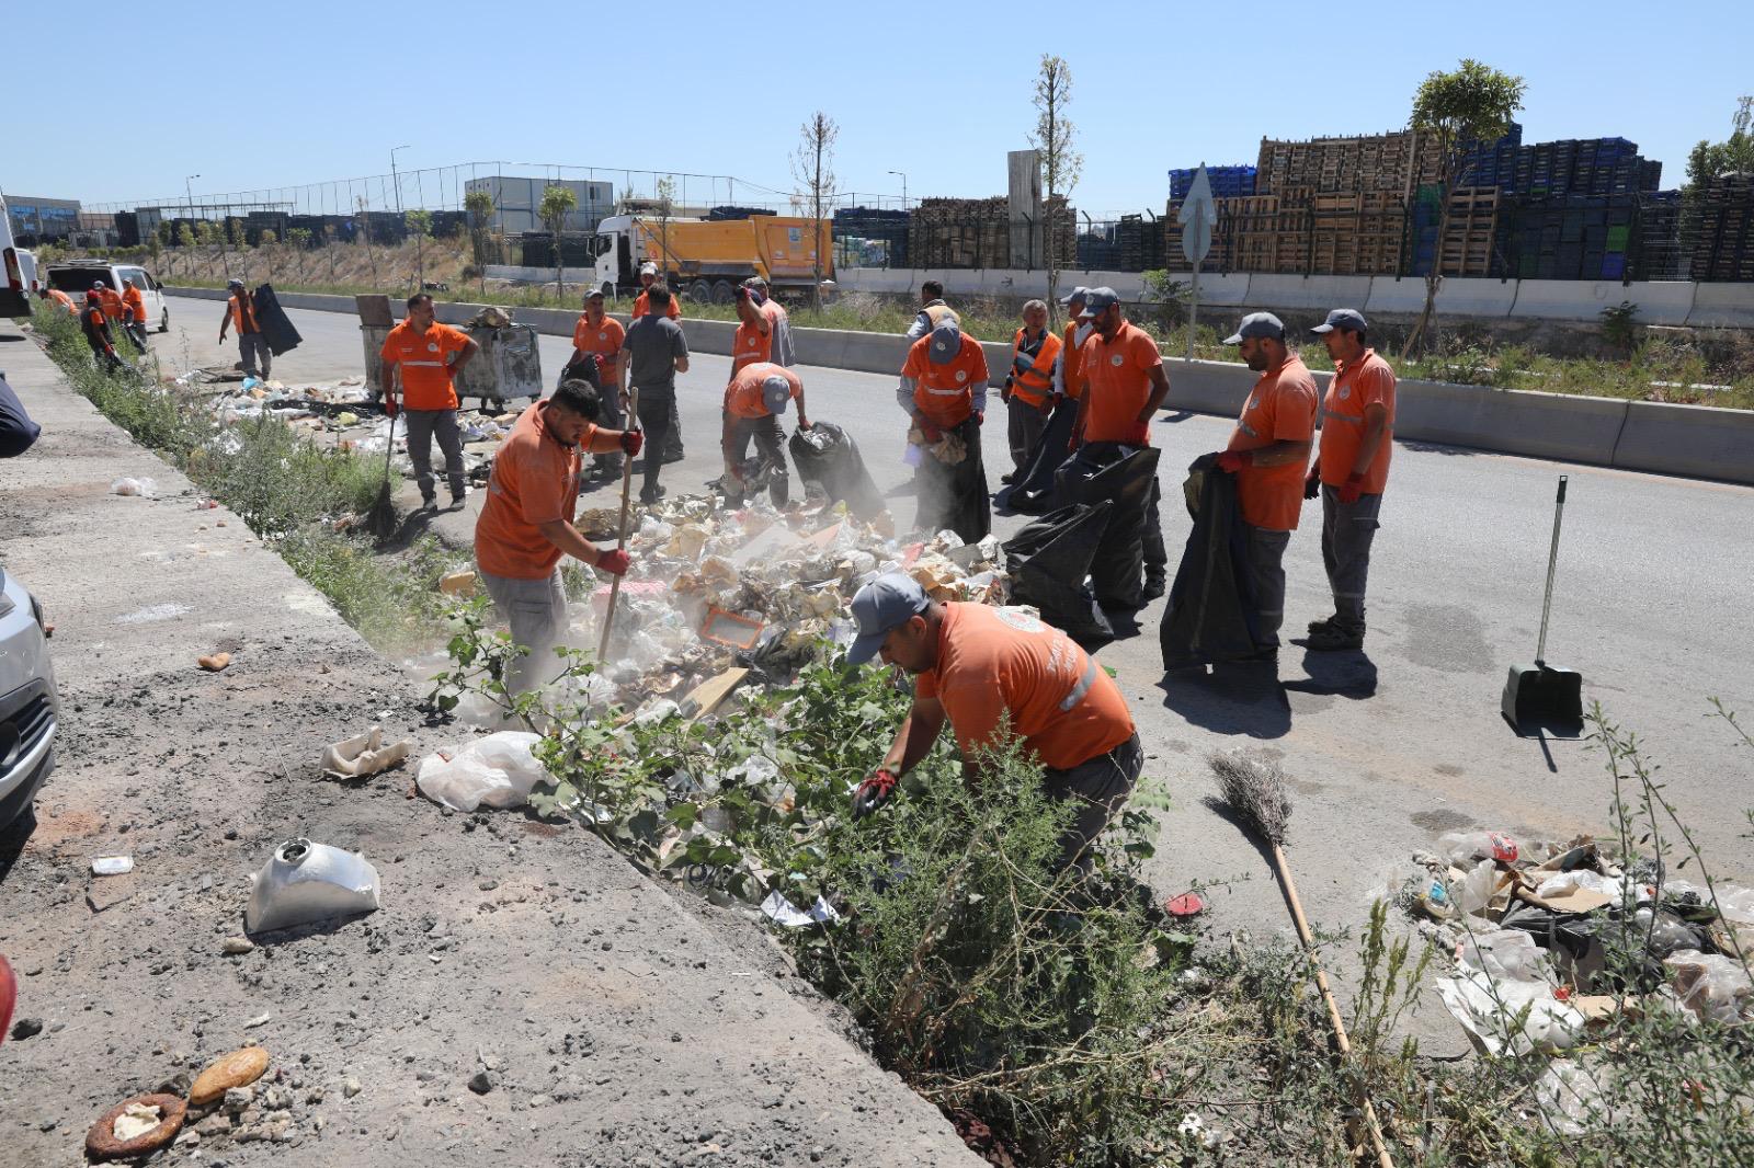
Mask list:
POLYGON ((39 823, 0 837, 0 952, 42 1026, 0 1049, 0 1166, 79 1164, 109 1107, 246 1043, 254 1101, 153 1163, 977 1163, 742 915, 582 830, 410 798, 412 763, 323 779, 374 723, 416 759, 460 731, 11 326, 0 349, 44 426, 0 465, 5 568, 56 624, 63 702, 39 823), (382 908, 228 956, 249 873, 300 835, 374 861, 382 908))

